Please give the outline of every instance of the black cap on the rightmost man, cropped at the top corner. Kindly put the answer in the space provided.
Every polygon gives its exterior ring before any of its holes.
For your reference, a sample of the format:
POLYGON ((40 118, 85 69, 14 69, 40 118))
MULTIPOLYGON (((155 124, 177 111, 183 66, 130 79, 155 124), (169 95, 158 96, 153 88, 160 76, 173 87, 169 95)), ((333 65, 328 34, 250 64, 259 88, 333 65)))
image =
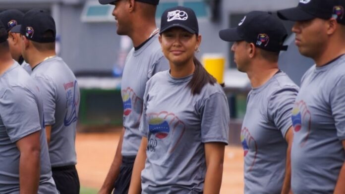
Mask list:
POLYGON ((314 18, 330 19, 334 17, 345 24, 345 0, 299 0, 297 7, 282 9, 278 16, 283 20, 306 21, 314 18))

